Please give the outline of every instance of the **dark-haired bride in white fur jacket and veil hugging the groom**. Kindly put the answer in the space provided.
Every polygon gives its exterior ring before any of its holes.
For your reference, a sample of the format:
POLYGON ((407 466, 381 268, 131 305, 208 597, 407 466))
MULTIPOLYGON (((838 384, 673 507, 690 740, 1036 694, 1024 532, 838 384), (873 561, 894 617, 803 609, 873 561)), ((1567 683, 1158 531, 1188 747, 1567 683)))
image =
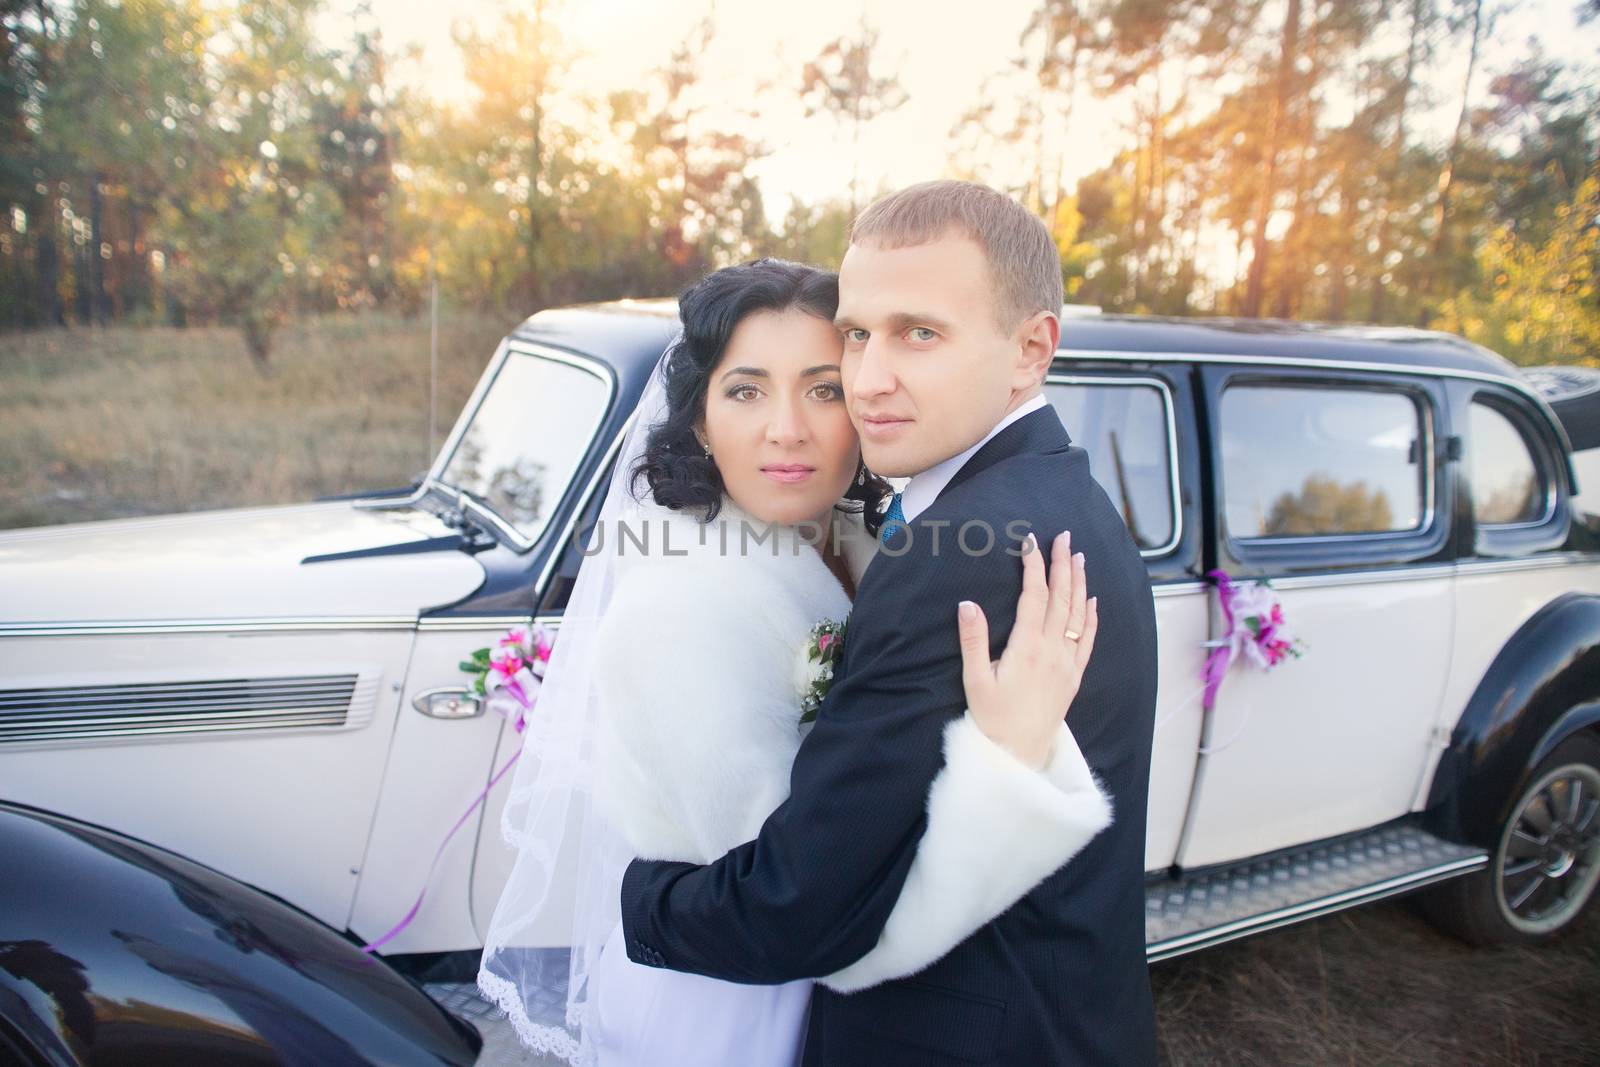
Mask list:
MULTIPOLYGON (((528 725, 502 821, 518 856, 478 973, 534 1051, 608 1067, 800 1059, 811 981, 637 965, 619 885, 635 856, 720 857, 787 797, 888 491, 861 466, 846 413, 837 302, 837 275, 800 264, 710 274, 683 294, 683 330, 635 411, 528 725), (534 926, 563 909, 570 950, 539 947, 534 926)), ((1019 606, 998 664, 981 611, 962 613, 968 712, 946 728, 878 944, 816 976, 830 989, 931 965, 1109 825, 1062 721, 1098 614, 1082 560, 1054 552, 1048 587, 1040 552, 1022 553, 1032 611, 1019 606), (1082 640, 1061 638, 1062 617, 1082 640), (1054 742, 1035 769, 1006 739, 1042 729, 1054 742)))

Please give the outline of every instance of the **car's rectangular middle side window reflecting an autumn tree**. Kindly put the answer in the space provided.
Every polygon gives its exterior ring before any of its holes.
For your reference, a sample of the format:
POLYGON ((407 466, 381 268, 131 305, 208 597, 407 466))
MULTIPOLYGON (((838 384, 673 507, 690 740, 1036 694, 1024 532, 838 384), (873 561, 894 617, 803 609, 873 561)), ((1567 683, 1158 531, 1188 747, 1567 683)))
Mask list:
POLYGON ((1234 386, 1219 434, 1227 531, 1314 537, 1419 530, 1429 477, 1418 403, 1400 392, 1234 386))

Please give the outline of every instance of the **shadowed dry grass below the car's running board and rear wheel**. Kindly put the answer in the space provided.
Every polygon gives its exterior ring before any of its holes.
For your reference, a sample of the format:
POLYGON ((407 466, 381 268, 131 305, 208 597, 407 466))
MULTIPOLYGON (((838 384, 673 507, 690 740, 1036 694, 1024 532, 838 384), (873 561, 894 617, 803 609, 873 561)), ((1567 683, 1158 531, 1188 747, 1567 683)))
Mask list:
POLYGON ((1405 901, 1150 968, 1173 1067, 1600 1064, 1600 907, 1541 949, 1470 949, 1405 901))

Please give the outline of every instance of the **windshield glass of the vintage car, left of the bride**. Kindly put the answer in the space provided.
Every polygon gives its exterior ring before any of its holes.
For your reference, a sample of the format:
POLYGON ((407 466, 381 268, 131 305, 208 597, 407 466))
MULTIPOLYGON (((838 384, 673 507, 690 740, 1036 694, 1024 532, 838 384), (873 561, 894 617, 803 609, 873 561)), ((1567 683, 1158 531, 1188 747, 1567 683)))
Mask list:
POLYGON ((531 544, 578 470, 610 395, 595 370, 512 349, 438 480, 470 493, 531 544))

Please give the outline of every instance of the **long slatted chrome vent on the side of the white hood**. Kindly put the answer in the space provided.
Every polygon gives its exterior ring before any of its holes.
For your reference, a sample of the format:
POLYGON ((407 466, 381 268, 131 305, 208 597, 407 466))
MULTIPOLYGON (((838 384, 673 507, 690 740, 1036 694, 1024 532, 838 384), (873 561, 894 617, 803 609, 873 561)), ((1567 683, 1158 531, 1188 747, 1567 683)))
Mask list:
POLYGON ((362 673, 0 689, 0 744, 357 725, 378 688, 362 673))

